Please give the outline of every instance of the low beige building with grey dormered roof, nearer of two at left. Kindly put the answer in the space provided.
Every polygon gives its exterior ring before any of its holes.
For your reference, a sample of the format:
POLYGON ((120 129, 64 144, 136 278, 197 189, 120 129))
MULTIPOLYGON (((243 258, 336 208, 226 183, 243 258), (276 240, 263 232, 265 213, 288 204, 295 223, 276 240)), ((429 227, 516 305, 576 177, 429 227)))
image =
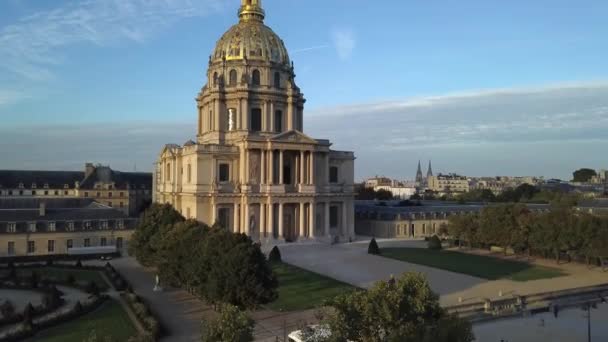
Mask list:
POLYGON ((91 198, 3 197, 0 257, 121 252, 136 223, 91 198))

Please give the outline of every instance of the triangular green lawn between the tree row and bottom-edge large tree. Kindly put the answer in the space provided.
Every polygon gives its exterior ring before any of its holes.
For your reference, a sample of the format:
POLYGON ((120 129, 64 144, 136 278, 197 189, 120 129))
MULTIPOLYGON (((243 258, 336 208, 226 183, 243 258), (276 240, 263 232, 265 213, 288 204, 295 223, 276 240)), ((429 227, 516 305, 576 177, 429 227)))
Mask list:
POLYGON ((296 266, 273 263, 272 271, 279 280, 279 298, 268 307, 275 311, 306 310, 321 306, 326 299, 355 288, 296 266))

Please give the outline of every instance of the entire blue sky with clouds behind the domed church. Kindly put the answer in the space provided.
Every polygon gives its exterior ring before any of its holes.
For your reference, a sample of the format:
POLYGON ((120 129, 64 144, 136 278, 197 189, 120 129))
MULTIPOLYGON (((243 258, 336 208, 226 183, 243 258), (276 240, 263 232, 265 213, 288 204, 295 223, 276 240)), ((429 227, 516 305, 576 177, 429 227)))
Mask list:
MULTIPOLYGON (((193 136, 239 3, 2 1, 0 168, 149 169, 193 136)), ((412 178, 418 159, 469 175, 608 168, 606 1, 264 7, 307 98, 305 132, 354 150, 357 178, 412 178)))

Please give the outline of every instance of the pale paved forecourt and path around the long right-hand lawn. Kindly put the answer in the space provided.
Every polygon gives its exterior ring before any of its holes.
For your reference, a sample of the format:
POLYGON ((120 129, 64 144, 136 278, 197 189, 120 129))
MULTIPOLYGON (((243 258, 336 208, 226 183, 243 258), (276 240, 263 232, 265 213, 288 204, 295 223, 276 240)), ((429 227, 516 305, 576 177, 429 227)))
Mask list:
MULTIPOLYGON (((380 247, 424 248, 424 241, 379 240, 380 247)), ((484 298, 497 299, 503 295, 525 295, 547 291, 593 286, 608 283, 608 272, 599 268, 588 269, 585 265, 568 263, 556 264, 550 260, 535 260, 534 263, 558 267, 567 276, 540 279, 527 282, 476 278, 460 273, 444 271, 427 266, 367 254, 367 241, 341 245, 302 244, 281 245, 283 260, 340 281, 369 288, 374 282, 397 276, 403 272, 421 272, 429 280, 431 288, 437 292, 444 306, 464 302, 481 301, 484 298)), ((513 258, 513 257, 512 257, 513 258)))

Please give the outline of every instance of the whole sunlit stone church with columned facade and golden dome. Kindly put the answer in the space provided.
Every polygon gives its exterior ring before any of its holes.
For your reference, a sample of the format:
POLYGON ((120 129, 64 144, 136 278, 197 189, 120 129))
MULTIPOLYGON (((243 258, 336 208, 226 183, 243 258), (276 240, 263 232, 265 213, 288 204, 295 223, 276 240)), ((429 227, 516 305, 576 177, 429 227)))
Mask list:
POLYGON ((154 200, 259 241, 354 239, 354 154, 304 134, 305 99, 261 0, 217 42, 196 141, 166 145, 154 200))

